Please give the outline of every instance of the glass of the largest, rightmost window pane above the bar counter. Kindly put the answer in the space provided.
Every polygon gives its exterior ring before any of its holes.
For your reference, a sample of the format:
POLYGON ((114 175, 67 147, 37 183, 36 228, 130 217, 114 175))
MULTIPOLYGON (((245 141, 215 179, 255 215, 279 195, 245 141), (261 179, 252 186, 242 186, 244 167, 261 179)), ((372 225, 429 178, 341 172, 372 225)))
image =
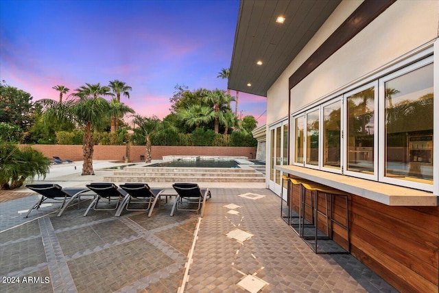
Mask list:
POLYGON ((383 84, 385 177, 433 184, 433 64, 383 84))

